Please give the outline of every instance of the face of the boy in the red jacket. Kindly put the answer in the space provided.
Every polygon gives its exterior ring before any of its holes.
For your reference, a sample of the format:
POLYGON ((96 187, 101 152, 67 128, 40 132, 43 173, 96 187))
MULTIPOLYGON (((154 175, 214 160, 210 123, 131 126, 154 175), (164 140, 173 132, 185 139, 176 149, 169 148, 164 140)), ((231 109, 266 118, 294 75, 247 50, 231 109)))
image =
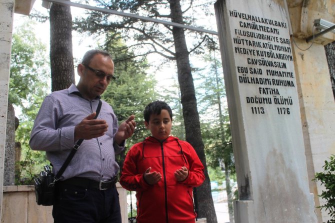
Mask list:
POLYGON ((149 123, 144 121, 144 124, 158 140, 167 138, 171 133, 172 120, 166 109, 162 109, 160 114, 151 114, 149 123))

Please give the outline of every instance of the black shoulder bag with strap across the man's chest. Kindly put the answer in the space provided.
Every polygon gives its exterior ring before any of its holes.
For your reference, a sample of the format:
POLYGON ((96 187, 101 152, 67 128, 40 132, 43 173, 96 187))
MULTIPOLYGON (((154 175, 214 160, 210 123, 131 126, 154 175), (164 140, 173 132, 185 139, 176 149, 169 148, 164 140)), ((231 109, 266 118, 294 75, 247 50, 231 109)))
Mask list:
MULTIPOLYGON (((100 112, 101 108, 101 100, 96 108, 96 114, 94 119, 100 112)), ((54 184, 59 179, 61 174, 63 174, 64 170, 66 169, 68 163, 71 161, 74 153, 78 150, 81 142, 83 139, 79 139, 77 143, 73 146, 71 152, 68 154, 66 160, 60 167, 59 171, 56 175, 54 175, 51 171, 51 167, 49 165, 44 166, 44 170, 40 171, 39 175, 33 177, 34 180, 34 187, 35 187, 35 195, 36 195, 36 202, 38 205, 43 206, 50 206, 53 205, 54 200, 54 184)))

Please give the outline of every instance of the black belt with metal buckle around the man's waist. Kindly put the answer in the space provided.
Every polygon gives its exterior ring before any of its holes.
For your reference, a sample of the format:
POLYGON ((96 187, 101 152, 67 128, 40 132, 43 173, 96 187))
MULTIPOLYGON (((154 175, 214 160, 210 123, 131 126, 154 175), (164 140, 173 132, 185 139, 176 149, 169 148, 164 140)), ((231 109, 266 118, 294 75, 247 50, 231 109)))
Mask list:
POLYGON ((100 180, 100 181, 95 181, 92 179, 87 179, 87 178, 82 178, 82 177, 72 177, 72 178, 65 179, 65 180, 59 180, 58 182, 102 190, 102 189, 110 189, 114 187, 115 183, 117 182, 117 177, 114 176, 110 180, 100 180))

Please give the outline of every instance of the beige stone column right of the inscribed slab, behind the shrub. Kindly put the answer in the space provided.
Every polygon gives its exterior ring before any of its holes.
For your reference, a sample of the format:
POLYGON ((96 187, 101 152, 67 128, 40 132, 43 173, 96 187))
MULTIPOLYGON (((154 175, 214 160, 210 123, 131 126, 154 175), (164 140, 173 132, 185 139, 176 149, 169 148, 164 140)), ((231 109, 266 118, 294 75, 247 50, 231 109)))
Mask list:
MULTIPOLYGON (((309 188, 314 193, 315 206, 319 206, 324 200, 317 194, 321 194, 324 186, 312 179, 315 172, 323 171, 324 160, 335 154, 335 102, 324 46, 298 38, 293 41, 309 188)), ((330 219, 326 210, 316 208, 315 211, 318 222, 330 219)))

